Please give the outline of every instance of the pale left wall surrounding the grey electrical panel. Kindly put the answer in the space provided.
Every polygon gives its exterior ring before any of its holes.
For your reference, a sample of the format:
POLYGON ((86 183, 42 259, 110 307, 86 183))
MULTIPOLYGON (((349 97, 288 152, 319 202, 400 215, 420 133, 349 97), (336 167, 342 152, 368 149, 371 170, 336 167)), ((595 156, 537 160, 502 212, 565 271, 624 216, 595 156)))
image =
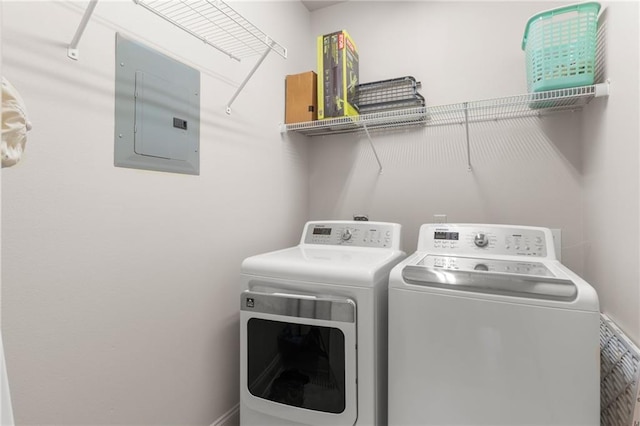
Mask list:
POLYGON ((3 2, 3 74, 33 131, 2 181, 2 330, 17 424, 209 425, 238 402, 238 278, 308 217, 284 76, 313 60, 298 2, 232 3, 289 49, 237 63, 133 2, 3 2), (287 22, 287 25, 282 25, 287 22), (113 166, 115 33, 201 71, 200 176, 113 166))

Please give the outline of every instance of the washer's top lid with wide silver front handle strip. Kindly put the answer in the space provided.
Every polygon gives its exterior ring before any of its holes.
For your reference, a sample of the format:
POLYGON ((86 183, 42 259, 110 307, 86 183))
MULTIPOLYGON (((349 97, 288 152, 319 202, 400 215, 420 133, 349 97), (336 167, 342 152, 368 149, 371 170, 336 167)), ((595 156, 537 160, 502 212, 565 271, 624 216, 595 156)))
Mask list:
POLYGON ((460 292, 572 302, 578 289, 539 262, 427 255, 402 269, 410 284, 460 292))

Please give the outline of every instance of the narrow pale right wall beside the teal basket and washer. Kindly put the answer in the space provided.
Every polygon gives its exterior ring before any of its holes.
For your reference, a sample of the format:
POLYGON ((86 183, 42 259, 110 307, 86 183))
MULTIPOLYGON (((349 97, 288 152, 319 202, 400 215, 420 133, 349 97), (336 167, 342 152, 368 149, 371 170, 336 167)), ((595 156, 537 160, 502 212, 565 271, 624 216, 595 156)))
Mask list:
POLYGON ((584 111, 585 276, 640 344, 640 6, 607 4, 611 95, 584 111))

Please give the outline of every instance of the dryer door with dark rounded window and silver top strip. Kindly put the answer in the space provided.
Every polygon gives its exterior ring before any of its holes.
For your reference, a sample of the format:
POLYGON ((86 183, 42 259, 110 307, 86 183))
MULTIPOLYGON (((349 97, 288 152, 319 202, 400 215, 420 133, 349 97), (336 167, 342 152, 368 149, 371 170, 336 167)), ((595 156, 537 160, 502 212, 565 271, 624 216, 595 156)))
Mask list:
POLYGON ((243 404, 305 424, 355 423, 353 300, 245 291, 240 323, 243 404))

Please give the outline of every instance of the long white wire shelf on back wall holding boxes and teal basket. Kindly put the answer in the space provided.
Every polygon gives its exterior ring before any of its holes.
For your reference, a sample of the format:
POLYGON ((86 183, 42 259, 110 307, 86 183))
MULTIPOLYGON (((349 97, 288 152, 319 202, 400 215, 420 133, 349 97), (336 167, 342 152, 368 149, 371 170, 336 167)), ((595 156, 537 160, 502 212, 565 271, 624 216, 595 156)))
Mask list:
POLYGON ((307 136, 321 136, 364 130, 504 120, 543 115, 560 110, 580 109, 594 97, 608 96, 608 94, 609 83, 601 83, 481 101, 285 124, 282 131, 297 132, 307 136))

